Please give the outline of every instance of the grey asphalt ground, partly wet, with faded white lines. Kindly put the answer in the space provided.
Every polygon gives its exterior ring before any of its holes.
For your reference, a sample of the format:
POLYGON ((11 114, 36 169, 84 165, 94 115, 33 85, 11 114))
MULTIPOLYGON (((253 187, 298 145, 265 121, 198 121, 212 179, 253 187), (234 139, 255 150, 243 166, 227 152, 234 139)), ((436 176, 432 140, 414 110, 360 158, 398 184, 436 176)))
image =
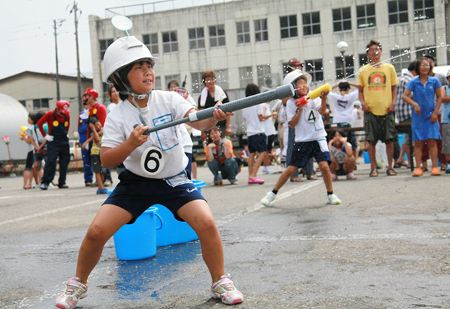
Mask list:
MULTIPOLYGON (((413 178, 401 168, 369 178, 362 161, 357 180, 333 183, 340 205, 326 204, 321 178, 286 183, 264 207, 259 200, 279 174, 259 169, 266 183, 248 185, 244 168, 239 185, 219 188, 198 169, 226 273, 245 296, 234 308, 450 308, 449 175, 413 178)), ((22 178, 0 178, 0 308, 54 308, 75 275, 79 245, 105 197, 85 188, 81 173, 67 183, 68 190, 23 190, 22 178)), ((77 308, 227 307, 210 297, 198 241, 120 261, 110 239, 89 282, 77 308)))

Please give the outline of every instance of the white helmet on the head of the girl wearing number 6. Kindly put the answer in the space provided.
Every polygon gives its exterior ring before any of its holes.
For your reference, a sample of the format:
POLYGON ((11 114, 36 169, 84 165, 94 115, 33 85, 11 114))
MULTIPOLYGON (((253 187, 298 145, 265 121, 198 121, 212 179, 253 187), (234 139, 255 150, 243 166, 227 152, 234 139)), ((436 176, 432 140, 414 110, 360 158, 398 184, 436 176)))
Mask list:
POLYGON ((150 58, 158 63, 159 58, 152 56, 147 46, 134 36, 121 37, 111 44, 105 51, 103 65, 105 66, 105 81, 113 84, 113 74, 120 68, 134 63, 134 61, 150 58))

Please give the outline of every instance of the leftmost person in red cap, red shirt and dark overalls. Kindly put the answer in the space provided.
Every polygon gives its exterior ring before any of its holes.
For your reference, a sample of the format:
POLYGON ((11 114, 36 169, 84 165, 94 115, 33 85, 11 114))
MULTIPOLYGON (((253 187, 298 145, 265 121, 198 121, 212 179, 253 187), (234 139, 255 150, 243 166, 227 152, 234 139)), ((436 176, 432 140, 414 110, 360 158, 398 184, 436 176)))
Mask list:
POLYGON ((47 190, 49 184, 55 177, 56 159, 59 158, 59 179, 58 187, 60 189, 69 188, 65 184, 65 178, 68 174, 68 166, 70 162, 69 150, 69 127, 70 127, 70 103, 65 100, 56 102, 56 109, 46 112, 39 121, 37 127, 44 136, 44 142, 39 145, 41 150, 47 145, 47 159, 44 167, 44 176, 41 179, 41 190, 47 190), (49 134, 44 131, 44 124, 49 126, 49 134))

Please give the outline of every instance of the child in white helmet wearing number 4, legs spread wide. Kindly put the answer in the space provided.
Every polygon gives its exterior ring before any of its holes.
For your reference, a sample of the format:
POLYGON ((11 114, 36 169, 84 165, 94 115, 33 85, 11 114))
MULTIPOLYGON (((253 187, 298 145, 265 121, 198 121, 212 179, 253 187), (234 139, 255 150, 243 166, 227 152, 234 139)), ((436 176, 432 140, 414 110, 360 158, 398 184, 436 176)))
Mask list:
POLYGON ((319 169, 323 175, 323 182, 327 190, 328 203, 341 203, 340 199, 333 193, 333 183, 329 167, 331 157, 326 142, 327 133, 321 117, 326 110, 326 96, 328 91, 322 91, 321 98, 309 100, 303 105, 300 98, 308 94, 310 82, 311 76, 300 70, 290 72, 284 79, 284 84, 293 83, 294 88, 297 89, 294 98, 289 99, 286 105, 289 126, 295 128, 295 144, 293 154, 288 158, 288 168, 278 178, 274 190, 268 192, 261 200, 264 206, 269 206, 274 201, 278 190, 283 187, 299 167, 306 166, 311 157, 314 157, 319 164, 319 169))

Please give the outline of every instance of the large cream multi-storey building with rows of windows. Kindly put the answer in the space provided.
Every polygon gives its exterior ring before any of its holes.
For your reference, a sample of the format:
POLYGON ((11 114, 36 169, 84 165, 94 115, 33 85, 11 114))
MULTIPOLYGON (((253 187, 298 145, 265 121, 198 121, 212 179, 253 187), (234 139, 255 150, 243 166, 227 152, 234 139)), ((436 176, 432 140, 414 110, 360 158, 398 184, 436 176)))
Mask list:
MULTIPOLYGON (((148 4, 107 12, 128 14, 134 23, 129 33, 160 58, 155 68, 157 88, 165 89, 169 80, 182 82, 186 77, 186 88, 195 96, 203 88, 200 76, 207 69, 217 73, 218 84, 227 90, 245 88, 250 82, 274 88, 282 83, 283 65, 290 58, 306 63, 304 70, 314 76, 316 84, 333 84, 342 77, 342 58, 336 47, 340 41, 349 46, 345 51, 347 77, 365 64, 366 44, 371 39, 383 44, 382 60, 411 51, 392 60, 399 73, 418 53, 431 53, 437 65, 446 65, 443 2, 236 0, 165 11, 148 4), (148 9, 153 12, 146 13, 148 9)), ((179 1, 160 4, 172 3, 179 1)), ((109 18, 91 15, 89 24, 94 88, 103 87, 105 93, 103 53, 126 34, 115 29, 109 18)))

